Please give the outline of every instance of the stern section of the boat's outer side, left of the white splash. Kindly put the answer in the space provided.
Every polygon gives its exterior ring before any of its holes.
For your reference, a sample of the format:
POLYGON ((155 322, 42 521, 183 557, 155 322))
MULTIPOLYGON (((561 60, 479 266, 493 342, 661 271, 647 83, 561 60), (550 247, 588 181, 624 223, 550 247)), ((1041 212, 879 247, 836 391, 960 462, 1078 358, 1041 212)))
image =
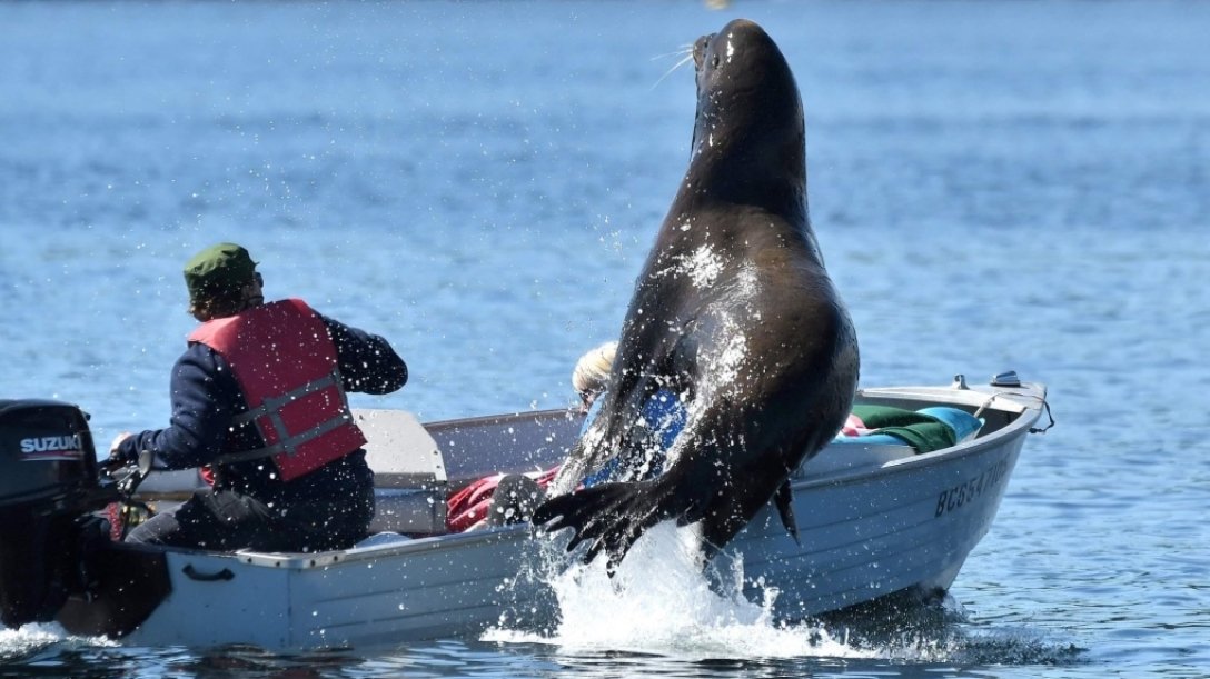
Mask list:
POLYGON ((499 530, 336 559, 171 552, 172 594, 123 642, 312 650, 469 638, 542 599, 517 582, 531 542, 528 530, 499 530))

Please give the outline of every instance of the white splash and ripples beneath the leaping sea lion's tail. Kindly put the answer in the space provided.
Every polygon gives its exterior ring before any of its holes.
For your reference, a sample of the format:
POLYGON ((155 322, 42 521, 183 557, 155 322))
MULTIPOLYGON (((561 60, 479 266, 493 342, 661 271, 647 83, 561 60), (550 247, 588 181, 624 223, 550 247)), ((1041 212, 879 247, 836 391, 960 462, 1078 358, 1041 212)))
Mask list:
POLYGON ((559 616, 548 628, 507 617, 482 640, 557 646, 570 656, 663 656, 767 663, 800 658, 891 665, 1066 665, 1079 649, 1033 631, 974 628, 950 597, 904 598, 802 622, 773 615, 778 592, 745 598, 743 559, 716 559, 703 573, 692 527, 661 523, 643 535, 611 579, 605 559, 570 567, 551 547, 546 584, 559 616), (722 562, 726 561, 725 564, 722 562))

